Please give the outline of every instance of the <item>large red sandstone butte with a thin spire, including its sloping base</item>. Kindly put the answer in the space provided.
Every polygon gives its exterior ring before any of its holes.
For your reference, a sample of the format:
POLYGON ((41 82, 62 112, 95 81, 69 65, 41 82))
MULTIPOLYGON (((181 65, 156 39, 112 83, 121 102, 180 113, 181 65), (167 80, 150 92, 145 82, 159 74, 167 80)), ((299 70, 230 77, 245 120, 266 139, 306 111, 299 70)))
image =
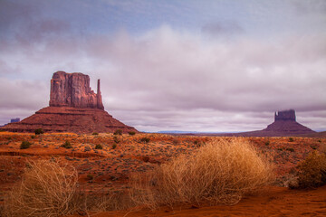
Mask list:
POLYGON ((10 123, 2 130, 11 132, 107 133, 121 129, 127 133, 138 132, 104 110, 101 100, 100 80, 97 93, 90 87, 90 77, 82 73, 57 71, 51 80, 49 107, 17 123, 10 123))

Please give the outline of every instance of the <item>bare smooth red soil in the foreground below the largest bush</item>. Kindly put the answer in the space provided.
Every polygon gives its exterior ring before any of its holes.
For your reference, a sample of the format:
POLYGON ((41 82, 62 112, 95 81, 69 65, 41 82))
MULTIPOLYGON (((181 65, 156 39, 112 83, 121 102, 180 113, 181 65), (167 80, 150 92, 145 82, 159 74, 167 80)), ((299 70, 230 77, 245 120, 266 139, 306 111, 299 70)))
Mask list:
POLYGON ((158 211, 136 208, 124 212, 102 212, 94 217, 110 216, 326 216, 326 186, 314 190, 289 190, 271 186, 259 195, 244 198, 233 206, 161 207, 158 211))

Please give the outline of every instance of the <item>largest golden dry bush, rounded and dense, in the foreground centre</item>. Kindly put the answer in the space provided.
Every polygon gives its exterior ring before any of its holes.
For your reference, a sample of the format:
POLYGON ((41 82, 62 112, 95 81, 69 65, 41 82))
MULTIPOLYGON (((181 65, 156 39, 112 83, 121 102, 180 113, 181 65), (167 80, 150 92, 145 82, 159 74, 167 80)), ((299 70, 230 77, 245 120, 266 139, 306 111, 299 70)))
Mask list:
POLYGON ((152 209, 176 203, 235 204, 273 182, 271 161, 243 138, 212 141, 192 156, 178 156, 152 173, 135 175, 131 198, 152 209))

